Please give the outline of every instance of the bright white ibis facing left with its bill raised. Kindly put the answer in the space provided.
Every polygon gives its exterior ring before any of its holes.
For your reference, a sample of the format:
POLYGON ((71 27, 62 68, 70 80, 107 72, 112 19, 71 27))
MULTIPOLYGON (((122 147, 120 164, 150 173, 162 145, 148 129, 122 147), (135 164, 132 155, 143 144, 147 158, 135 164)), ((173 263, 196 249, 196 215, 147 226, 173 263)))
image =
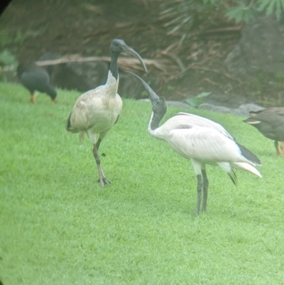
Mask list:
POLYGON ((229 174, 231 181, 236 185, 236 174, 233 168, 250 171, 261 177, 255 168, 261 161, 241 144, 238 144, 230 134, 220 125, 203 117, 178 113, 171 117, 162 126, 160 120, 167 112, 165 98, 158 97, 151 87, 132 72, 146 88, 152 104, 152 115, 148 131, 156 139, 167 141, 170 147, 180 156, 190 159, 197 175, 197 203, 196 215, 206 210, 208 178, 205 170, 206 164, 220 166, 229 174))

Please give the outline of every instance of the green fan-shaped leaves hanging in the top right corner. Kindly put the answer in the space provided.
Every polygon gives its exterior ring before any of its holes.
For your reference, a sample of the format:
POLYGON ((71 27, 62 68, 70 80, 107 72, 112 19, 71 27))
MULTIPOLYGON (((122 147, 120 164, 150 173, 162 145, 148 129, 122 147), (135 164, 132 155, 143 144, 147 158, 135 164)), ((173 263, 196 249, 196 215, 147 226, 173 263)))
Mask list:
POLYGON ((224 15, 229 20, 251 21, 259 14, 267 16, 275 14, 279 19, 283 15, 284 0, 167 0, 163 3, 160 20, 165 21, 168 33, 183 31, 194 33, 198 31, 200 24, 208 18, 224 15))

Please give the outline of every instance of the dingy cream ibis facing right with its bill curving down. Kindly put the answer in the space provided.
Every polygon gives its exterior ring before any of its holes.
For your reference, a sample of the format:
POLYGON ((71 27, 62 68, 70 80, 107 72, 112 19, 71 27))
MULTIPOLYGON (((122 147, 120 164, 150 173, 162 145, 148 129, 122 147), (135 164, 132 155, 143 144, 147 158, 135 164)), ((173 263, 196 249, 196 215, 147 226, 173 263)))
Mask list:
POLYGON ((94 146, 93 155, 97 163, 99 182, 102 187, 109 184, 110 181, 107 180, 102 171, 98 149, 104 136, 116 124, 122 109, 122 100, 117 94, 119 87, 117 59, 119 53, 122 52, 129 53, 129 55, 137 58, 143 65, 145 72, 147 72, 141 56, 121 39, 114 39, 110 46, 111 64, 107 83, 85 92, 77 99, 66 126, 67 131, 80 132, 80 138, 84 136, 84 133, 89 136, 89 140, 94 146))

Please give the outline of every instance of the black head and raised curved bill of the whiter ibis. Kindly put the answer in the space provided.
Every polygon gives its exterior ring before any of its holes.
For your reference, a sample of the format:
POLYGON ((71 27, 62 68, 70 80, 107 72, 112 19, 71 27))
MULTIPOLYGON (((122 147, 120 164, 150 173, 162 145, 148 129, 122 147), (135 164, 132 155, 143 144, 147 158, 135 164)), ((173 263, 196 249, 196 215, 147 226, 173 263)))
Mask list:
POLYGON ((165 98, 164 97, 158 97, 158 95, 155 94, 155 91, 141 77, 139 77, 135 73, 130 72, 130 71, 127 71, 127 73, 130 73, 131 75, 136 77, 136 79, 138 81, 140 81, 141 84, 145 87, 145 89, 148 92, 151 104, 152 104, 153 113, 157 117, 162 119, 164 114, 167 112, 167 104, 165 103, 165 98))

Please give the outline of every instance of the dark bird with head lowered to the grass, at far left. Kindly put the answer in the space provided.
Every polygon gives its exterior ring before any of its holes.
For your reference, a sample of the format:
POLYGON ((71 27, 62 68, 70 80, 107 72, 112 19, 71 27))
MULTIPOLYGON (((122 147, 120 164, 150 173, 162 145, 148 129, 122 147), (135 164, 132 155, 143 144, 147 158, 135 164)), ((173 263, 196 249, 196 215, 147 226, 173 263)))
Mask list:
POLYGON ((35 91, 46 93, 55 102, 56 91, 50 85, 48 72, 35 63, 20 63, 17 68, 17 76, 24 87, 31 93, 31 102, 35 104, 35 91))

